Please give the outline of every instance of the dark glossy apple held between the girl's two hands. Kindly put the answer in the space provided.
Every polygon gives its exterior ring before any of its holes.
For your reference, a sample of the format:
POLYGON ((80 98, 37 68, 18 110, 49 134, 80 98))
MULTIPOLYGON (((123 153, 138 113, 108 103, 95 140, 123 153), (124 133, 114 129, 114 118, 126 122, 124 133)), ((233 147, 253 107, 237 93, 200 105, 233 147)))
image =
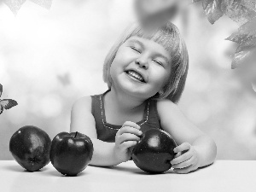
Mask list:
POLYGON ((145 131, 132 150, 132 160, 144 172, 161 173, 172 167, 170 163, 177 144, 166 131, 150 129, 145 131))

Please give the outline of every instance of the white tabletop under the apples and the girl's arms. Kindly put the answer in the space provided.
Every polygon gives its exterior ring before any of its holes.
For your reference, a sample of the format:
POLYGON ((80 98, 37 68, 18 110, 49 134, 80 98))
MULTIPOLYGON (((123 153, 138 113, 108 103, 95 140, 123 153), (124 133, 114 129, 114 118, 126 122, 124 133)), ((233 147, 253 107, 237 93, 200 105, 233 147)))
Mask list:
POLYGON ((129 161, 119 166, 88 166, 77 177, 65 177, 49 163, 40 172, 26 172, 15 160, 0 160, 0 191, 90 192, 256 191, 256 161, 218 160, 189 174, 149 175, 129 161))

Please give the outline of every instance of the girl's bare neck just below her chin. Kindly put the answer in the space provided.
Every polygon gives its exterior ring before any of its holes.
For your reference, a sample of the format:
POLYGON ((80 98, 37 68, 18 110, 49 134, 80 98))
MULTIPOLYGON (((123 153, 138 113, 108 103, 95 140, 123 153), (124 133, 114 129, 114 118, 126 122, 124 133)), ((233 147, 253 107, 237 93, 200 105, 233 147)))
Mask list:
POLYGON ((116 91, 113 87, 105 96, 105 101, 119 112, 131 113, 144 107, 142 99, 129 96, 125 92, 116 91))

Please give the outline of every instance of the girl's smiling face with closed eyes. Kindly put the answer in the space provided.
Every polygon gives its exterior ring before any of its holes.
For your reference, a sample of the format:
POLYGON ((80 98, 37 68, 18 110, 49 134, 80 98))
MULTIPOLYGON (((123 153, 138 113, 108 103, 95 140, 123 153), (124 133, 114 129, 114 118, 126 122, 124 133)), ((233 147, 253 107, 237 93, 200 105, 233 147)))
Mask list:
POLYGON ((171 73, 166 49, 146 38, 131 37, 119 47, 110 67, 116 90, 141 99, 159 92, 171 73))

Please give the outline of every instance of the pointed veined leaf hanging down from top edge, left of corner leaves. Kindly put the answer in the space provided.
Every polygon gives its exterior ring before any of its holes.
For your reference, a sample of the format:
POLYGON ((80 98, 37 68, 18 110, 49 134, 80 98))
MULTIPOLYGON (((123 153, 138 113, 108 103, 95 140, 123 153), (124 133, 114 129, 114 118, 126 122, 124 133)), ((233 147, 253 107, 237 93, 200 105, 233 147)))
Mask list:
POLYGON ((211 24, 224 15, 222 9, 222 0, 204 0, 202 3, 203 9, 207 14, 207 18, 211 24))

